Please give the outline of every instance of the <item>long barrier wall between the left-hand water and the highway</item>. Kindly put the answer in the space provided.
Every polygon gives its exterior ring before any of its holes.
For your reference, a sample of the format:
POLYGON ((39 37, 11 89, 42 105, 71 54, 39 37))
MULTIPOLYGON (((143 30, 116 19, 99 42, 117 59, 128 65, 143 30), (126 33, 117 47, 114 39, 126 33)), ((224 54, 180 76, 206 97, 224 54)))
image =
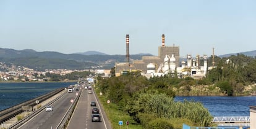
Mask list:
POLYGON ((11 108, 5 109, 0 112, 0 123, 14 117, 15 115, 19 114, 22 112, 22 106, 35 106, 36 103, 35 101, 45 101, 48 98, 50 98, 53 95, 56 95, 57 93, 61 92, 64 90, 64 88, 58 88, 57 90, 54 90, 53 92, 47 93, 45 95, 41 95, 38 98, 34 98, 29 101, 25 101, 24 103, 20 103, 16 106, 12 106, 11 108))

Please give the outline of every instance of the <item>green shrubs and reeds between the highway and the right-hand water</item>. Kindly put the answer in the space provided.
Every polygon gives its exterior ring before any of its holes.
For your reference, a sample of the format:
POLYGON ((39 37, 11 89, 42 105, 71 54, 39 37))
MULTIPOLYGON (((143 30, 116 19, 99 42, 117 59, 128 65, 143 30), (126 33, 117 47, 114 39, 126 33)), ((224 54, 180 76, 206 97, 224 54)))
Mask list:
POLYGON ((148 80, 140 76, 140 72, 129 72, 126 76, 108 79, 98 77, 96 92, 103 93, 100 96, 103 104, 111 101, 105 107, 111 114, 108 116, 113 128, 119 128, 119 120, 129 120, 129 128, 182 128, 184 120, 193 126, 210 126, 213 117, 202 103, 186 100, 181 103, 173 99, 172 89, 191 80, 168 76, 148 80))

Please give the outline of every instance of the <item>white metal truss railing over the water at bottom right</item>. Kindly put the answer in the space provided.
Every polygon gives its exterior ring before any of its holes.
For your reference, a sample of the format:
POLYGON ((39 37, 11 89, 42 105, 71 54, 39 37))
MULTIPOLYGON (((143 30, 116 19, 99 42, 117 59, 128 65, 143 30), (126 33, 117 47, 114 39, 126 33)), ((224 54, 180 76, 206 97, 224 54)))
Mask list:
POLYGON ((214 117, 213 123, 250 123, 250 116, 214 117))

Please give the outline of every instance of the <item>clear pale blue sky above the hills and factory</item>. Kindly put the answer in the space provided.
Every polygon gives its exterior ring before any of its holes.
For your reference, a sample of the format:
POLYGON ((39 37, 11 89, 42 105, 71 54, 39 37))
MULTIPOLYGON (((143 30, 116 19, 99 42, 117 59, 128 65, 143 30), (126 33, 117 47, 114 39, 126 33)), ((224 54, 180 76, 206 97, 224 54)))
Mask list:
POLYGON ((255 0, 1 0, 0 48, 180 56, 256 50, 255 0))

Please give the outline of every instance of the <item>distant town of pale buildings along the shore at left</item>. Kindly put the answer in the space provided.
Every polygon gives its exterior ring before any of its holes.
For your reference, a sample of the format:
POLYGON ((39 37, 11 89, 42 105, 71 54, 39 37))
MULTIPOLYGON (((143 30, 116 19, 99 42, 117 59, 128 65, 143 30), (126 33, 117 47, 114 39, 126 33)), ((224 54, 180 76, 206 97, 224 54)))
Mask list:
MULTIPOLYGON (((56 81, 53 80, 49 74, 65 76, 72 72, 92 72, 93 74, 100 74, 101 76, 109 76, 110 70, 105 69, 82 69, 82 70, 70 70, 70 69, 45 69, 45 71, 35 71, 31 68, 24 66, 6 65, 0 62, 0 82, 46 82, 56 81)), ((57 80, 58 81, 58 80, 57 80)), ((69 81, 69 79, 64 79, 69 81)))

